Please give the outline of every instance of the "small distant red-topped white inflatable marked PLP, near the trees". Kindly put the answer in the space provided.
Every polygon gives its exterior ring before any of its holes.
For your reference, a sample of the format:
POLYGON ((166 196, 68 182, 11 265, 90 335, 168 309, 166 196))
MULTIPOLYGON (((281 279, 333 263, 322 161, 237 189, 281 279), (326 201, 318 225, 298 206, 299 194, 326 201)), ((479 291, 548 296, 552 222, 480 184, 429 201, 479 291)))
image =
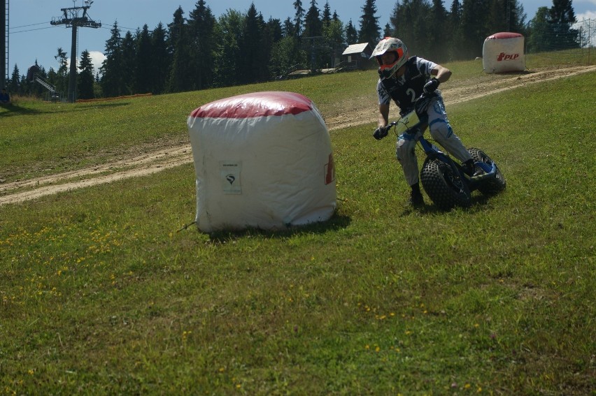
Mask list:
POLYGON ((501 32, 488 36, 482 48, 486 73, 525 71, 524 38, 518 33, 501 32))

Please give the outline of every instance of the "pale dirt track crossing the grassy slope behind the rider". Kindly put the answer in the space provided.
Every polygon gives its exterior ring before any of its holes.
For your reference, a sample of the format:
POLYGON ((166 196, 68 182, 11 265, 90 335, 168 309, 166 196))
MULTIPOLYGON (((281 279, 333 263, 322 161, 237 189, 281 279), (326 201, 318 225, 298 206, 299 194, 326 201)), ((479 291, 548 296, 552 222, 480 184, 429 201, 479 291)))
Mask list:
MULTIPOLYGON (((596 71, 596 66, 572 68, 541 68, 527 73, 495 75, 487 80, 485 76, 450 81, 441 86, 446 105, 469 101, 485 95, 497 94, 508 89, 524 85, 546 82, 558 78, 596 71)), ((341 109, 331 109, 325 114, 325 123, 329 131, 350 126, 370 124, 376 121, 376 98, 355 98, 350 103, 341 103, 341 109), (349 109, 349 110, 346 110, 349 109)), ((125 160, 115 161, 103 166, 85 168, 72 172, 59 173, 28 179, 19 182, 0 184, 0 205, 21 203, 50 194, 80 189, 87 186, 114 182, 150 175, 161 170, 192 162, 190 144, 162 147, 148 154, 130 156, 125 160)))

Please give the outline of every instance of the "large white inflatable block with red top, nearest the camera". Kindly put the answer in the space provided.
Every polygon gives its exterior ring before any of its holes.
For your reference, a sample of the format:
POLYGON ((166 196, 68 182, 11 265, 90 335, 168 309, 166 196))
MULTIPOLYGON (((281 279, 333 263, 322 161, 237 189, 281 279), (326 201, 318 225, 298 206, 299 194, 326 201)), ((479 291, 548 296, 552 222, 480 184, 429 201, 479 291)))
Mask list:
POLYGON ((331 140, 310 99, 233 96, 195 109, 187 124, 200 230, 283 229, 332 216, 331 140))

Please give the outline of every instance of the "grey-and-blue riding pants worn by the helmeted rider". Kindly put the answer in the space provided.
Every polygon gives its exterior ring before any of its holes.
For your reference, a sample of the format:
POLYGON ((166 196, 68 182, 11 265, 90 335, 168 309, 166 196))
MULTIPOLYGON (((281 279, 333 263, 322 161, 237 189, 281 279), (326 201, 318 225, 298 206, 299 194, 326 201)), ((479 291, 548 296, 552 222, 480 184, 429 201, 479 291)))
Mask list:
MULTIPOLYGON (((447 113, 445 112, 443 98, 441 98, 441 96, 432 99, 427 110, 427 115, 429 119, 428 126, 432 138, 437 140, 439 144, 445 147, 449 154, 455 156, 459 161, 465 162, 471 159, 466 147, 464 147, 460 138, 458 138, 453 132, 453 129, 451 129, 449 120, 447 119, 447 113)), ((397 156, 397 161, 402 164, 406 182, 408 182, 410 186, 418 183, 419 180, 418 159, 416 158, 414 149, 416 148, 418 138, 424 133, 425 129, 426 128, 422 129, 422 131, 419 131, 416 135, 403 133, 397 137, 395 156, 397 156)))

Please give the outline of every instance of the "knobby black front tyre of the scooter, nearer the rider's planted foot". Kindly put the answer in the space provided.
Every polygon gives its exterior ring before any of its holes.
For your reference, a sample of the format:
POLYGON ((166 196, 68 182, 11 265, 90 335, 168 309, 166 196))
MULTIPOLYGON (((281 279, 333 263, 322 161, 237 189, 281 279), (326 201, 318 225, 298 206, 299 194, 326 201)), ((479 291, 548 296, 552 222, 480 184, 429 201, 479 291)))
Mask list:
POLYGON ((471 193, 466 182, 448 163, 439 159, 425 159, 420 171, 420 182, 434 205, 441 210, 471 205, 471 193))

